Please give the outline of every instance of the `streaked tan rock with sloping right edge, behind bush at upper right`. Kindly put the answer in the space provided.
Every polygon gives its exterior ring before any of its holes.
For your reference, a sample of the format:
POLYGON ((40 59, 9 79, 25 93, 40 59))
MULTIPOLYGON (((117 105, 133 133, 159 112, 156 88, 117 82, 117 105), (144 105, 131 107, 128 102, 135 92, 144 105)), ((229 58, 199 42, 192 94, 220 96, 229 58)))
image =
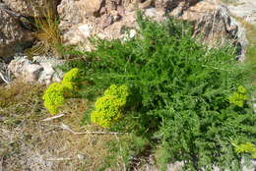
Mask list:
MULTIPOLYGON (((173 11, 171 15, 174 15, 173 11)), ((236 47, 237 58, 244 60, 247 45, 244 28, 231 17, 227 7, 219 1, 199 2, 183 11, 179 18, 194 23, 194 36, 201 37, 203 43, 210 47, 229 43, 236 47)))

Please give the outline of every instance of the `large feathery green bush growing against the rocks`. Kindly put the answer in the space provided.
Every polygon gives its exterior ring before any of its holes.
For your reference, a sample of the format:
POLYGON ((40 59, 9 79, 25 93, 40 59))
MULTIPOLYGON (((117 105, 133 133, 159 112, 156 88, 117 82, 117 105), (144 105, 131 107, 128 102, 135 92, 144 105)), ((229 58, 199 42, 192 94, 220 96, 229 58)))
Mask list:
POLYGON ((96 49, 84 53, 83 79, 91 83, 85 96, 109 85, 132 89, 136 105, 126 107, 124 118, 110 129, 148 140, 152 149, 158 146, 162 170, 177 160, 185 162, 185 170, 213 170, 213 165, 239 170, 241 154, 229 140, 255 142, 256 116, 249 102, 241 107, 228 102, 248 79, 233 48, 209 49, 192 38, 187 23, 172 19, 158 24, 139 15, 138 24, 138 34, 126 41, 92 39, 96 49))

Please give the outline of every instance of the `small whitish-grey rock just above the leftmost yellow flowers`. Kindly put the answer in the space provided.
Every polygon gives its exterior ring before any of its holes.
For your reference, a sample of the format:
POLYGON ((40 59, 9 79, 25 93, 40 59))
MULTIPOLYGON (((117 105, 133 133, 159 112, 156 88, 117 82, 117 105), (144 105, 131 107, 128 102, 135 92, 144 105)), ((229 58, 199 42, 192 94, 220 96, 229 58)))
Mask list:
POLYGON ((64 61, 44 56, 35 56, 29 60, 27 56, 17 57, 8 65, 15 78, 25 82, 38 82, 49 85, 52 82, 60 82, 63 73, 56 69, 64 61))

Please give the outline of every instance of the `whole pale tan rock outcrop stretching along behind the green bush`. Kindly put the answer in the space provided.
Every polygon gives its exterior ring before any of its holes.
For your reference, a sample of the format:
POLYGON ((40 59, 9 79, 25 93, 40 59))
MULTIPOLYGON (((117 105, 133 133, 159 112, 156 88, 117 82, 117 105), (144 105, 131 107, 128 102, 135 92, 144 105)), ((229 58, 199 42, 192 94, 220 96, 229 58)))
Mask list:
MULTIPOLYGON (((125 30, 138 28, 136 12, 156 20, 165 20, 168 14, 193 24, 194 36, 201 36, 208 45, 224 45, 226 42, 244 47, 244 36, 234 19, 220 0, 62 0, 58 6, 60 30, 68 45, 80 45, 90 50, 88 38, 127 37, 125 30), (90 1, 91 2, 91 1, 90 1), (242 37, 242 38, 241 38, 242 37)), ((241 52, 240 54, 244 53, 241 52)))

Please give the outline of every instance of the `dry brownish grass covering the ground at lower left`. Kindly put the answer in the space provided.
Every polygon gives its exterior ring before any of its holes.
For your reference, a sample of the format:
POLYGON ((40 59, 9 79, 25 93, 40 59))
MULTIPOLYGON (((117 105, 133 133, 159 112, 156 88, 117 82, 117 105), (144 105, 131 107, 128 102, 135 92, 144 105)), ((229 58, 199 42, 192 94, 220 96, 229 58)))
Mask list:
POLYGON ((70 99, 65 116, 51 117, 42 106, 42 85, 16 82, 0 86, 0 170, 70 171, 96 170, 107 154, 106 142, 112 135, 74 135, 63 130, 64 123, 76 132, 96 131, 93 125, 81 127, 88 101, 70 99))

